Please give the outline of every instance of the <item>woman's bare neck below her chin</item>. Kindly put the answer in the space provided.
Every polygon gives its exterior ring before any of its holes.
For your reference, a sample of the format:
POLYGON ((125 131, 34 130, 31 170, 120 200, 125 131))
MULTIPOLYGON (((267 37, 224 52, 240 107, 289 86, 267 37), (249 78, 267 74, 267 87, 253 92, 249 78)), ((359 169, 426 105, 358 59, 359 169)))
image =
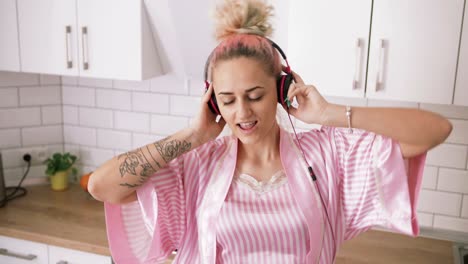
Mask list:
POLYGON ((279 158, 280 128, 275 123, 268 136, 254 144, 242 144, 239 141, 238 157, 241 160, 250 160, 256 163, 264 163, 279 158))

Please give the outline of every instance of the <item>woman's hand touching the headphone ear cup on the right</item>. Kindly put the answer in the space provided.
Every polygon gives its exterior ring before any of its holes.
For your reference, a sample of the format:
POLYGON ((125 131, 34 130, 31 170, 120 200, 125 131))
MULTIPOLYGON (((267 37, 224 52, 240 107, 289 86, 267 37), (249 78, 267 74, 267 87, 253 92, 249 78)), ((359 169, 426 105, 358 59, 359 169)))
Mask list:
MULTIPOLYGON (((292 72, 295 82, 289 86, 288 99, 297 100, 297 107, 290 106, 289 113, 295 118, 308 124, 322 124, 328 102, 313 85, 306 85, 302 78, 292 72)), ((286 109, 287 111, 287 109, 286 109)))

